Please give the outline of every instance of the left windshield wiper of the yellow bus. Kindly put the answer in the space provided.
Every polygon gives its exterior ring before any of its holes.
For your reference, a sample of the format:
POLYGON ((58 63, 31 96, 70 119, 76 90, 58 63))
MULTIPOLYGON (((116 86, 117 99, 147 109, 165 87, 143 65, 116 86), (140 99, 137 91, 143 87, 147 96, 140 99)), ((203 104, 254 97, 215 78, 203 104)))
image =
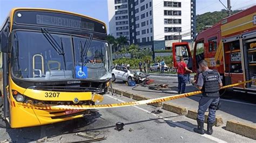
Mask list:
POLYGON ((59 46, 58 42, 52 37, 51 33, 47 30, 47 28, 41 28, 43 35, 45 38, 49 41, 53 49, 59 54, 63 56, 63 62, 64 62, 64 69, 66 70, 66 59, 65 59, 65 52, 63 47, 62 38, 60 38, 61 46, 59 46))

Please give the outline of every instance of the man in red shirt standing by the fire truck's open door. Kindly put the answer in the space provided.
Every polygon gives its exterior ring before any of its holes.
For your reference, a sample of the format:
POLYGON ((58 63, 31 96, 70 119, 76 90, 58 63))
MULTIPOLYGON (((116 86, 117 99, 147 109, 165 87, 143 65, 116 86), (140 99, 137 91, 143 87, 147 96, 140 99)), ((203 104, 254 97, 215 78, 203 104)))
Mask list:
POLYGON ((178 73, 178 92, 179 94, 185 93, 186 88, 186 76, 185 72, 190 71, 192 73, 192 70, 187 68, 186 63, 184 62, 184 58, 180 57, 180 62, 177 64, 177 73, 178 73))

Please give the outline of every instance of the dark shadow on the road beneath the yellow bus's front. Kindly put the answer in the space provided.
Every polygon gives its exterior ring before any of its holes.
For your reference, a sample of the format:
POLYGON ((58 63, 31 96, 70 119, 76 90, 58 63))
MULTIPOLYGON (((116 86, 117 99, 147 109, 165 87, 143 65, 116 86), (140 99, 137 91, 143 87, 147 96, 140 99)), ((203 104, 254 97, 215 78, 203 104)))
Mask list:
POLYGON ((50 125, 26 128, 6 128, 6 133, 9 134, 12 142, 37 141, 38 139, 44 137, 52 138, 58 135, 76 133, 82 130, 86 130, 86 127, 94 123, 97 120, 97 118, 100 118, 100 116, 102 115, 100 115, 96 111, 93 112, 91 115, 87 115, 83 118, 72 119, 50 125), (43 132, 45 133, 42 133, 42 130, 44 130, 43 132))

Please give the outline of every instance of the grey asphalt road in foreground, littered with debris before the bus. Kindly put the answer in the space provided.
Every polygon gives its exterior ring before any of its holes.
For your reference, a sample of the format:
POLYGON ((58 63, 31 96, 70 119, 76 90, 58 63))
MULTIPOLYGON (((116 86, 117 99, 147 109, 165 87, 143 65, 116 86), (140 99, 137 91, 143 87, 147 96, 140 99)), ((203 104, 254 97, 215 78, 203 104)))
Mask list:
MULTIPOLYGON (((102 104, 129 101, 133 100, 119 95, 105 95, 102 104)), ((158 109, 150 105, 93 110, 91 116, 57 124, 18 129, 0 128, 0 141, 8 139, 14 142, 35 142, 44 137, 48 137, 48 141, 54 142, 87 140, 75 135, 79 132, 98 134, 98 138, 106 138, 100 142, 254 141, 219 127, 213 127, 213 135, 200 135, 193 132, 193 127, 196 127, 195 120, 165 110, 161 110, 163 113, 160 114, 151 113, 154 110, 158 109), (125 124, 124 130, 114 130, 118 121, 125 124)))

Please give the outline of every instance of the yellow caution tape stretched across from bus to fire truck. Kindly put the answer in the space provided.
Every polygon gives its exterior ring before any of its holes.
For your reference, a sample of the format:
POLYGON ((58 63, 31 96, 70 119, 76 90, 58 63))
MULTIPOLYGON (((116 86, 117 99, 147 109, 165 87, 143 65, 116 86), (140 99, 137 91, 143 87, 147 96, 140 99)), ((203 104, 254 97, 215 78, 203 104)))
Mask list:
MULTIPOLYGON (((225 87, 221 87, 220 89, 234 87, 240 84, 245 84, 250 81, 239 82, 231 85, 226 85, 225 87)), ((143 104, 150 104, 150 103, 158 103, 158 102, 165 102, 170 101, 173 99, 183 98, 192 95, 201 94, 201 91, 193 91, 188 92, 186 94, 179 94, 173 96, 166 96, 154 99, 147 99, 144 101, 136 101, 136 102, 125 102, 125 103, 116 103, 116 104, 103 104, 103 105, 51 105, 51 104, 27 104, 27 103, 18 103, 17 106, 23 106, 24 108, 31 108, 31 109, 39 109, 39 110, 87 110, 87 109, 106 109, 106 108, 118 108, 118 107, 125 107, 125 106, 134 106, 134 105, 143 105, 143 104)))

